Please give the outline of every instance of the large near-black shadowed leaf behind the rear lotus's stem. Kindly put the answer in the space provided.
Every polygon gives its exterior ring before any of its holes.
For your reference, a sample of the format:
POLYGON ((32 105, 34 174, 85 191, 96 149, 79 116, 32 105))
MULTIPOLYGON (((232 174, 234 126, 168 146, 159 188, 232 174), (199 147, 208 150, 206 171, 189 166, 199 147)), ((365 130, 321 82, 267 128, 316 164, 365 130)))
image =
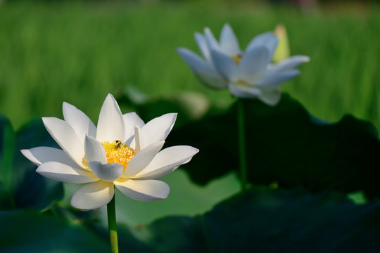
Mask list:
MULTIPOLYGON (((336 124, 318 122, 287 95, 270 107, 243 100, 246 112, 248 178, 252 183, 312 191, 364 190, 380 196, 380 143, 369 122, 348 115, 336 124)), ((191 179, 207 183, 239 167, 236 105, 174 129, 167 145, 193 145, 200 153, 186 165, 191 179)))

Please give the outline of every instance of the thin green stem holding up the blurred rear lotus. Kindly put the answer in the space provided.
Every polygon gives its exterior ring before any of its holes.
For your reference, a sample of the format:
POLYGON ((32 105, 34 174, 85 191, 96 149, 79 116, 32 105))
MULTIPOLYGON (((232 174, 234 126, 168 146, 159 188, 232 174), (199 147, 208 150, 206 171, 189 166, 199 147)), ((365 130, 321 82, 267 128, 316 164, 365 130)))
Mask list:
POLYGON ((246 133, 244 127, 244 106, 243 100, 238 98, 238 134, 239 134, 239 159, 241 191, 247 186, 247 163, 246 163, 246 133))

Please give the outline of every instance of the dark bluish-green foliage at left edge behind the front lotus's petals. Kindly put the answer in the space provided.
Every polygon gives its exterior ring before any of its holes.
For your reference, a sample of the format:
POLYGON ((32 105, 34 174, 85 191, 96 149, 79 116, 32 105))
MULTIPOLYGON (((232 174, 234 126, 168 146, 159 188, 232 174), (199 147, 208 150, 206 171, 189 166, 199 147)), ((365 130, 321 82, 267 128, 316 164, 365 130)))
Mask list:
POLYGON ((34 208, 43 210, 63 197, 62 183, 45 179, 21 153, 21 149, 56 145, 42 120, 34 120, 14 132, 9 121, 0 117, 0 210, 34 208))

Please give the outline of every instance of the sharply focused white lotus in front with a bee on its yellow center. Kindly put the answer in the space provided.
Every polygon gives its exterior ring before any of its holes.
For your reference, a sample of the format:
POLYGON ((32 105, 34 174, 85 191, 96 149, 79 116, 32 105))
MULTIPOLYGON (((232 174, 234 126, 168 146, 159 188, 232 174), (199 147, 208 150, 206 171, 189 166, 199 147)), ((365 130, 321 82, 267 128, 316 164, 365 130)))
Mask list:
POLYGON ((175 124, 169 113, 147 124, 131 112, 122 115, 115 98, 108 94, 98 126, 84 112, 63 103, 63 117, 42 118, 61 149, 38 147, 21 150, 37 164, 37 172, 49 179, 87 183, 72 195, 77 209, 98 209, 114 195, 114 186, 134 200, 162 200, 169 186, 156 179, 189 162, 198 149, 178 145, 161 150, 175 124), (161 151, 160 151, 161 150, 161 151))

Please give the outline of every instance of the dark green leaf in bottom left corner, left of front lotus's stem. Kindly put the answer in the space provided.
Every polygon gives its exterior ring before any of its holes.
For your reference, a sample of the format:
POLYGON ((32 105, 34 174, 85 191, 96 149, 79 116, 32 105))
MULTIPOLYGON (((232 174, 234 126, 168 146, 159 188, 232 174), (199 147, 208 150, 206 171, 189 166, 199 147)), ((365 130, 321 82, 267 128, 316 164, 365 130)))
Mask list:
POLYGON ((1 252, 108 252, 108 240, 47 214, 0 212, 1 252))

